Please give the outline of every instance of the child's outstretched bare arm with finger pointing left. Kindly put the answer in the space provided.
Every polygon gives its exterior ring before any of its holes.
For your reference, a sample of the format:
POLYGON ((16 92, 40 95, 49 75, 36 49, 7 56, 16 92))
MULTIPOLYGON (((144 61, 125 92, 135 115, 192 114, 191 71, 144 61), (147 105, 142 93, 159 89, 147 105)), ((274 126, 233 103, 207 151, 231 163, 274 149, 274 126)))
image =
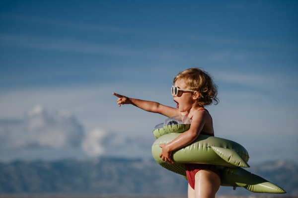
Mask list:
POLYGON ((164 115, 166 117, 173 117, 173 116, 181 115, 178 109, 164 106, 157 102, 128 98, 126 96, 123 96, 123 95, 120 95, 117 93, 113 93, 113 95, 118 97, 117 104, 119 105, 119 107, 124 104, 131 104, 131 105, 139 107, 145 111, 149 111, 152 113, 158 113, 158 114, 164 115))

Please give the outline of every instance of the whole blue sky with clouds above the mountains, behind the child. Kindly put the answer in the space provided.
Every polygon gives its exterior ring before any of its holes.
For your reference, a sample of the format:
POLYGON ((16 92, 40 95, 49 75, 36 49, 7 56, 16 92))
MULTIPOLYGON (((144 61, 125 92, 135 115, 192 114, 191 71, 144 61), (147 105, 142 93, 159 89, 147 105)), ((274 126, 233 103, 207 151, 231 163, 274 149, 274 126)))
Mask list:
POLYGON ((0 1, 0 160, 151 157, 165 117, 111 93, 175 106, 203 67, 219 86, 216 136, 251 162, 298 159, 297 1, 0 1))

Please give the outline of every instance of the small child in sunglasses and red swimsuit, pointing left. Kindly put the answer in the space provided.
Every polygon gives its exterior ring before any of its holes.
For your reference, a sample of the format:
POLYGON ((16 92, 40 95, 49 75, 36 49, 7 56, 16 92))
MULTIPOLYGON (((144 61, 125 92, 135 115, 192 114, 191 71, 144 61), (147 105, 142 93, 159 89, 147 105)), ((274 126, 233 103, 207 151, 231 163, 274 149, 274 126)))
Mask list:
MULTIPOLYGON (((214 136, 212 117, 204 107, 218 104, 217 86, 210 75, 199 69, 189 68, 179 72, 174 78, 172 95, 177 103, 176 108, 161 105, 157 102, 128 98, 116 93, 119 107, 132 104, 145 111, 159 113, 166 117, 188 116, 192 123, 190 129, 181 133, 168 144, 160 144, 162 152, 159 157, 167 163, 173 163, 172 151, 193 142, 199 134, 214 136)), ((215 165, 185 164, 188 180, 188 198, 215 198, 221 185, 220 173, 215 165)))

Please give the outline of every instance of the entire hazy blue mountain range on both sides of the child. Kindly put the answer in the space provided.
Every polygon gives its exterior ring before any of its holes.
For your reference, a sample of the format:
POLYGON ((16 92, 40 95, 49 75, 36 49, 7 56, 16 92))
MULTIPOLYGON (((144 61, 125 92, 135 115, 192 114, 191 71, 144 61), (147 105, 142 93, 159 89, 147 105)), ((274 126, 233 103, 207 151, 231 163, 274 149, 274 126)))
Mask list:
MULTIPOLYGON (((298 195, 298 163, 272 161, 246 169, 298 195)), ((153 160, 15 161, 0 163, 0 194, 187 195, 187 181, 153 160)), ((221 187, 218 195, 249 195, 221 187)))

